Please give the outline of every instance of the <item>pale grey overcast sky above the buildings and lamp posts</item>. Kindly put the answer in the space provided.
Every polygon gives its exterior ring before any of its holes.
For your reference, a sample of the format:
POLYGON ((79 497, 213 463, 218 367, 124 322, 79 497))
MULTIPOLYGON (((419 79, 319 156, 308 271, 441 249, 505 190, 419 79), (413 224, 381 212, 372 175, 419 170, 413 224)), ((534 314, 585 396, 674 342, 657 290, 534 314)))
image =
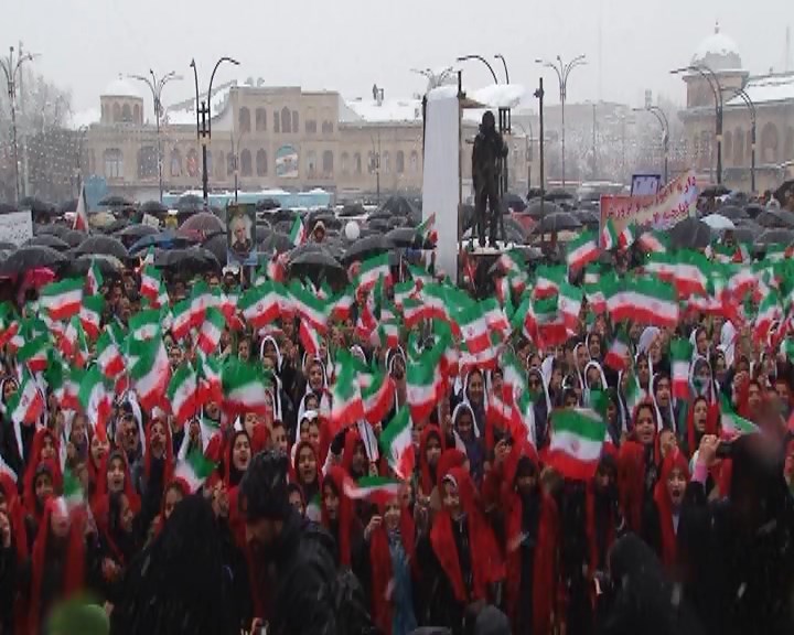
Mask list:
MULTIPOLYGON (((643 103, 645 89, 680 103, 684 87, 669 69, 689 62, 719 20, 753 73, 785 61, 792 0, 8 0, 0 50, 21 40, 41 54, 36 69, 73 94, 75 110, 98 107, 119 73, 176 71, 185 77, 163 94, 170 104, 193 95, 191 57, 205 89, 221 55, 239 68, 216 83, 247 76, 268 85, 335 89, 367 97, 407 97, 425 83, 411 67, 443 67, 466 53, 502 53, 511 79, 536 86, 536 57, 588 56, 571 75, 569 101, 643 103), (486 12, 490 14, 486 15, 486 12)), ((794 56, 792 54, 791 56, 794 56)), ((501 63, 493 61, 500 76, 501 63)), ((790 62, 790 69, 794 69, 790 62)), ((466 85, 491 83, 465 63, 466 85)), ((556 78, 545 72, 548 82, 556 78)), ((141 86, 141 94, 146 90, 141 86)), ((555 90, 550 100, 557 101, 555 90)), ((148 94, 148 93, 147 93, 148 94)))

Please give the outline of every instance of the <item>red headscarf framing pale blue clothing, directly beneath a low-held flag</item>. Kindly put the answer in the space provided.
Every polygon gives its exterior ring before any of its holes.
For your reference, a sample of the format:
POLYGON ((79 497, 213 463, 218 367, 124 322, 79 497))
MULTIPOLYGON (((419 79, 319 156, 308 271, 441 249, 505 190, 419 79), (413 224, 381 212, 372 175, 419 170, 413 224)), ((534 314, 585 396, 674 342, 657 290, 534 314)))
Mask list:
MULTIPOLYGON (((378 513, 386 513, 386 505, 380 505, 378 513)), ((407 507, 400 509, 400 541, 411 569, 415 567, 415 526, 414 518, 407 507)), ((393 603, 386 600, 386 592, 393 578, 391 552, 389 550, 386 528, 380 525, 369 538, 369 562, 372 564, 372 606, 375 624, 385 635, 391 635, 393 603)))

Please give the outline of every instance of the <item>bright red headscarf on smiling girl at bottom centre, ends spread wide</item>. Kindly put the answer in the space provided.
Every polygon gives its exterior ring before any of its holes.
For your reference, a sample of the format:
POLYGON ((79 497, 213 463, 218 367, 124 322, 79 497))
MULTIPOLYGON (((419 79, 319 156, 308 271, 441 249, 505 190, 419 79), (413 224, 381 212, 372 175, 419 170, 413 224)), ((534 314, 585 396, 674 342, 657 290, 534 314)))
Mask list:
POLYGON ((476 501, 476 489, 469 473, 462 467, 450 470, 447 476, 458 485, 461 507, 466 513, 469 543, 471 546, 474 588, 471 594, 463 583, 458 547, 452 532, 449 510, 438 513, 430 530, 430 543, 452 586, 455 600, 469 604, 487 598, 489 584, 504 580, 505 567, 496 538, 476 501))

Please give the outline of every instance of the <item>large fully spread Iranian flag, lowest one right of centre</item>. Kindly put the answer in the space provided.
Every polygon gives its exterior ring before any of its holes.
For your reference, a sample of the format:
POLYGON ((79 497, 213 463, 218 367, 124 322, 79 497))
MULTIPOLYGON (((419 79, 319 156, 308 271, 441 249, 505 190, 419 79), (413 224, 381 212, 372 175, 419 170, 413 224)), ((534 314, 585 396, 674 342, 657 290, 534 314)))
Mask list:
POLYGON ((596 476, 607 426, 586 408, 555 410, 546 464, 566 478, 589 481, 596 476))

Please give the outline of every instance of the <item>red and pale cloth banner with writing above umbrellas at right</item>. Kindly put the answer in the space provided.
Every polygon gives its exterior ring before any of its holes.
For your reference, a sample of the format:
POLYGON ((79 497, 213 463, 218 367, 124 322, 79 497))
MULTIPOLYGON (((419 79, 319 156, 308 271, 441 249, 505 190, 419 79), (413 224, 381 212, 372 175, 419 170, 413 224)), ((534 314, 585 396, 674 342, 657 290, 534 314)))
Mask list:
POLYGON ((642 228, 669 229, 680 220, 695 216, 698 190, 693 171, 682 174, 655 196, 601 196, 601 230, 609 218, 616 232, 634 224, 642 228))

